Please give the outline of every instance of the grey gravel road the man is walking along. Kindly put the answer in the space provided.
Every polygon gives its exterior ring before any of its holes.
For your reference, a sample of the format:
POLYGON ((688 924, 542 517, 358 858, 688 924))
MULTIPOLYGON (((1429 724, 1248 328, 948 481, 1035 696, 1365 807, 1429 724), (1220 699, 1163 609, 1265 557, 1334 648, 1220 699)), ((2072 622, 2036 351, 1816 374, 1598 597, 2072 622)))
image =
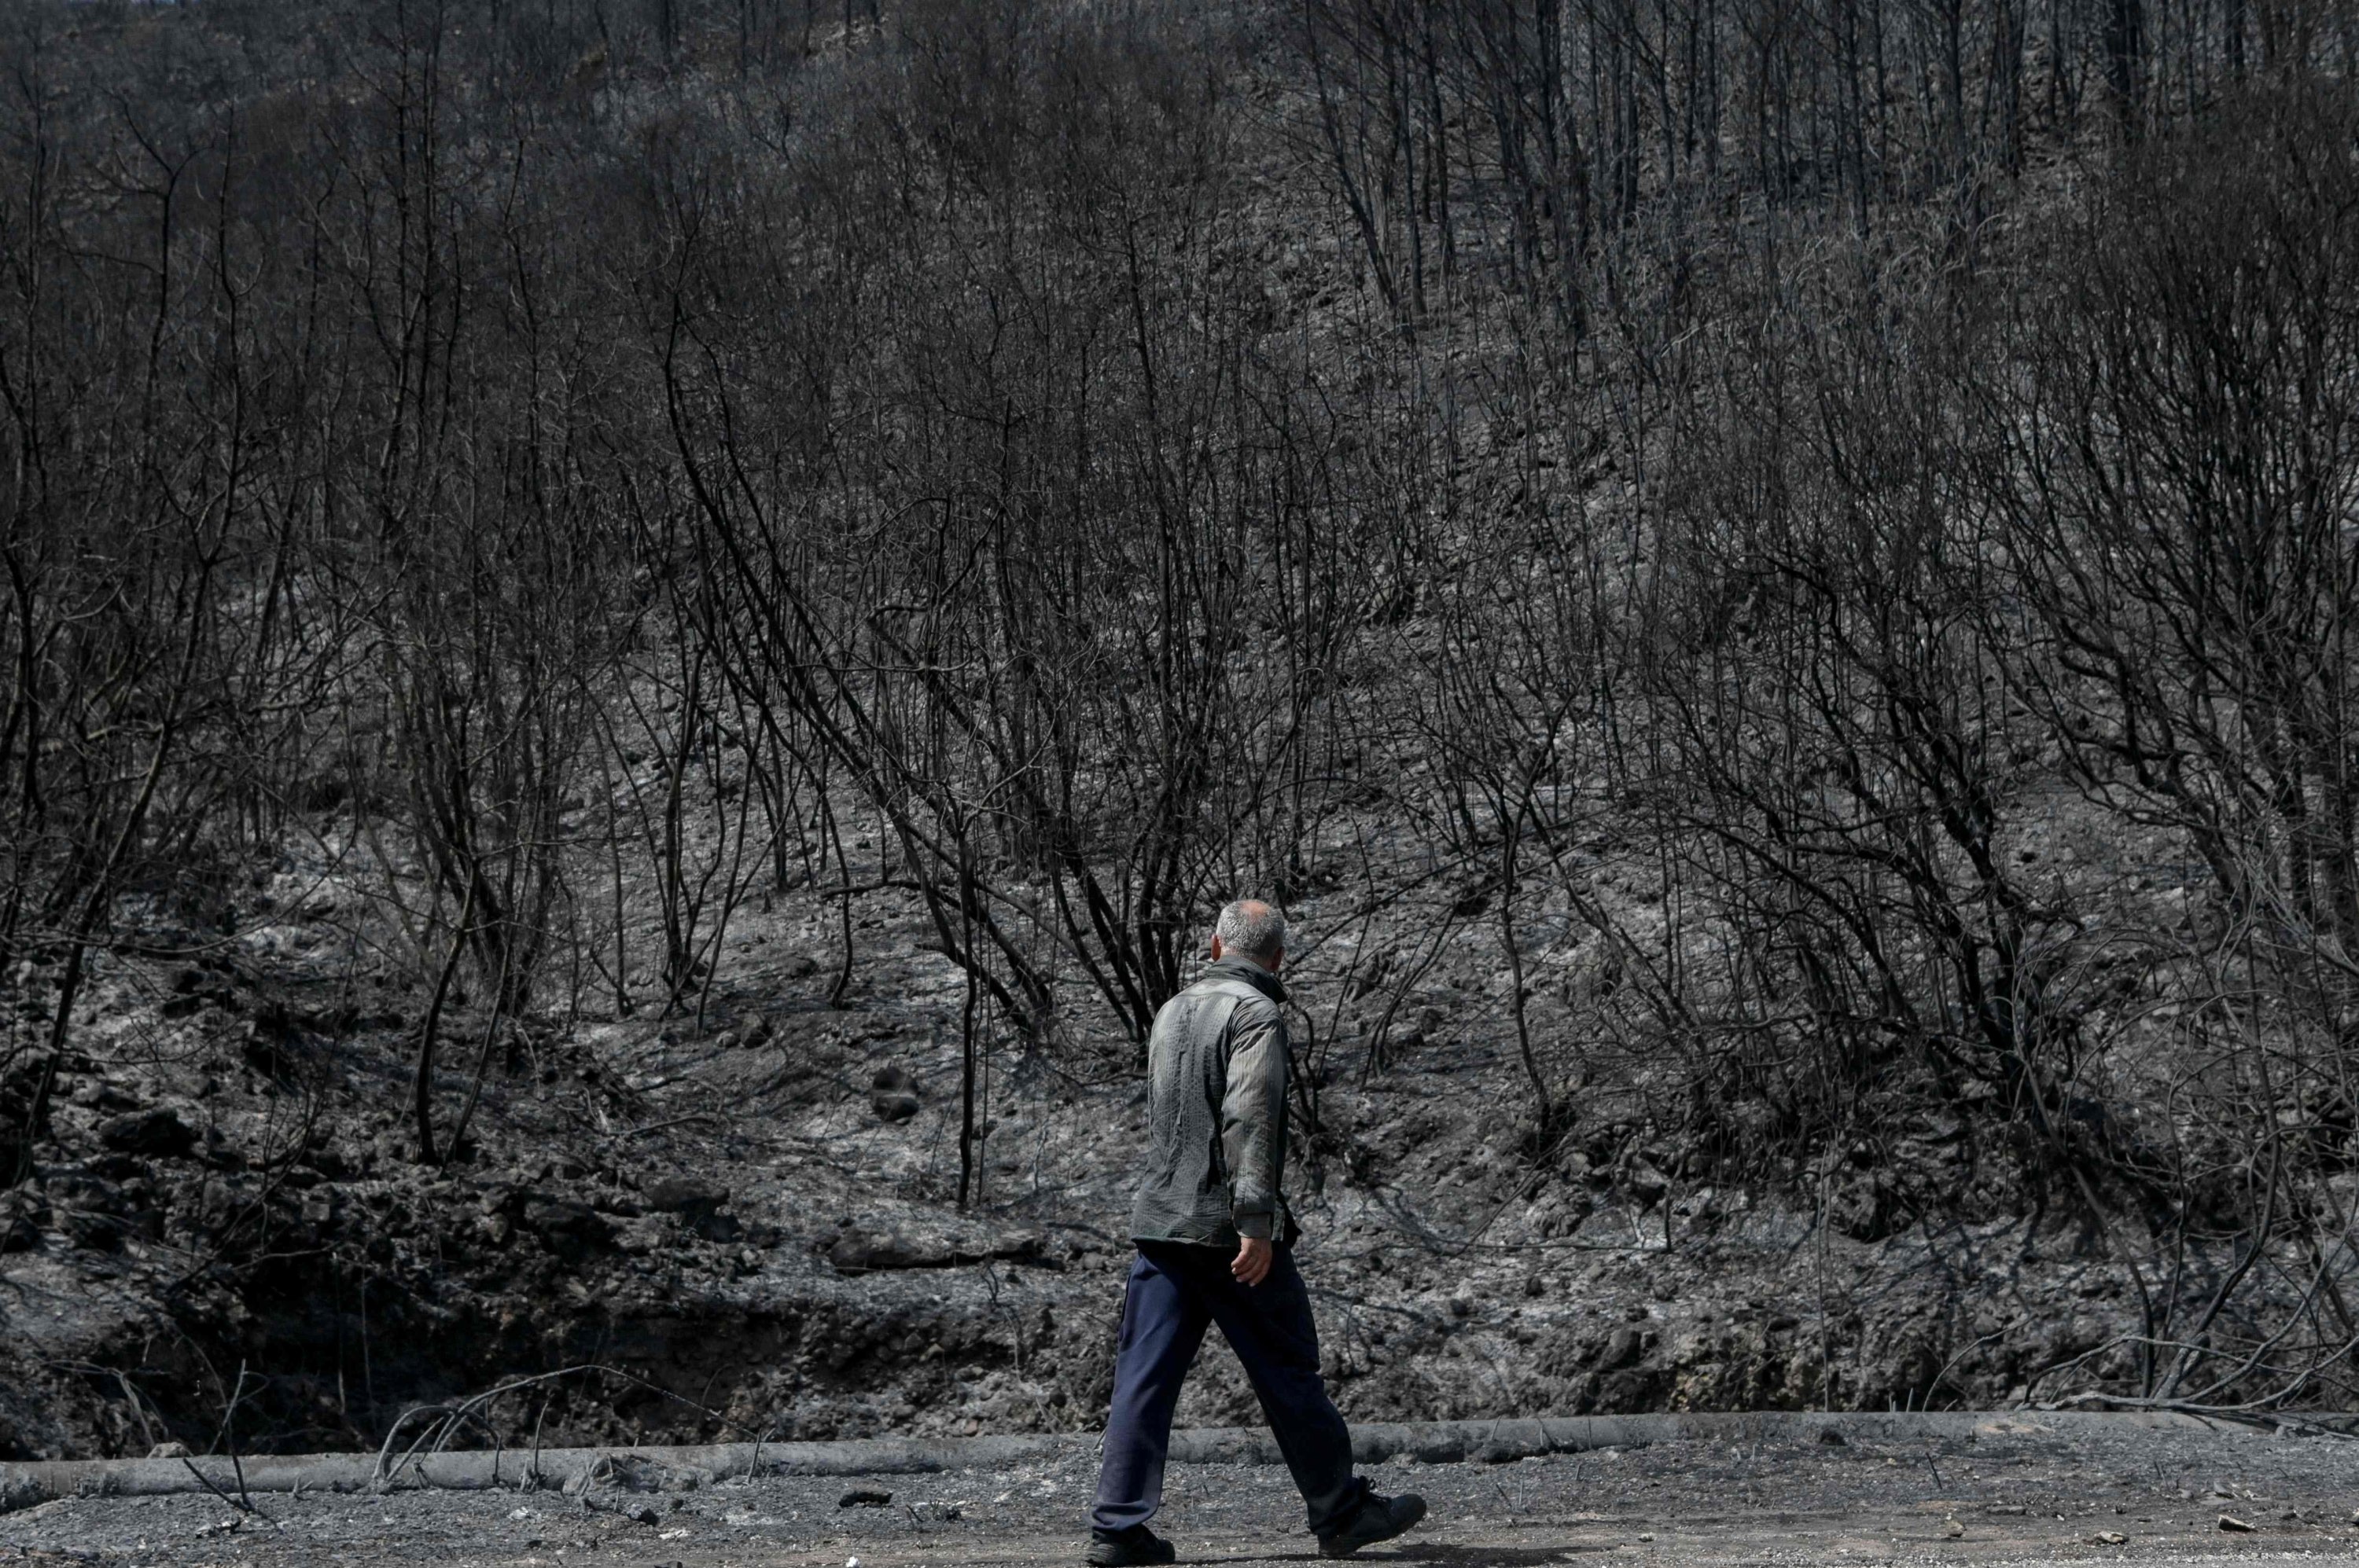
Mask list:
MULTIPOLYGON (((2076 1431, 1998 1417, 1972 1436, 1677 1441, 1510 1464, 1375 1467, 1425 1528, 1411 1563, 2359 1563, 2359 1445, 2331 1436, 2076 1431), (2225 1526, 2232 1518, 2239 1526, 2225 1526)), ((0 1566, 514 1563, 569 1568, 1078 1563, 1095 1457, 925 1476, 698 1490, 71 1497, 0 1516, 0 1566), (887 1497, 856 1502, 854 1493, 887 1497)), ((1286 1471, 1175 1467, 1158 1526, 1182 1561, 1316 1561, 1286 1471)))

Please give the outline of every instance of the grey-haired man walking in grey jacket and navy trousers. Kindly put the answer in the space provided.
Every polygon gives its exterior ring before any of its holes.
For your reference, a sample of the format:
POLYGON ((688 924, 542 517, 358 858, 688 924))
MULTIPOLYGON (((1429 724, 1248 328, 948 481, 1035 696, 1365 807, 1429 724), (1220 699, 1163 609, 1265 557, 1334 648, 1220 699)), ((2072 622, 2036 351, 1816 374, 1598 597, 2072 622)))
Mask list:
POLYGON ((1163 1507, 1172 1408, 1203 1330, 1220 1323, 1309 1507, 1319 1551, 1349 1556, 1425 1518, 1352 1474, 1352 1434, 1319 1379, 1312 1299, 1293 1259, 1286 1172, 1286 917, 1257 898, 1220 913, 1213 962, 1163 1004, 1146 1042, 1149 1151, 1130 1210, 1137 1259, 1113 1356, 1090 1563, 1168 1563, 1146 1528, 1163 1507))

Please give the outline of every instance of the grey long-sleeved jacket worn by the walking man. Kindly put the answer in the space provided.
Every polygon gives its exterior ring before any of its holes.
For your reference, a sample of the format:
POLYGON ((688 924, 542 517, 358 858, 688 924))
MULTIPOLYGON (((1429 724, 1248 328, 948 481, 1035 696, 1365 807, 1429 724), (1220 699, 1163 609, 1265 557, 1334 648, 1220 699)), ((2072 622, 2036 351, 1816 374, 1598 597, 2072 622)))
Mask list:
POLYGON ((1146 1170, 1137 1240, 1234 1247, 1288 1236, 1286 988, 1243 957, 1208 964, 1146 1037, 1146 1170))

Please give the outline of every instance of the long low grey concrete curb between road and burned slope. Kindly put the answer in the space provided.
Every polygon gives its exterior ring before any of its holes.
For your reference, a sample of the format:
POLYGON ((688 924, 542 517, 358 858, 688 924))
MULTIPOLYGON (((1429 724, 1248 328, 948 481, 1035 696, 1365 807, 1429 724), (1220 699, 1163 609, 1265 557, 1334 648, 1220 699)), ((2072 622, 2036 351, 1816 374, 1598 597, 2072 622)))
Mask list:
MULTIPOLYGON (((2184 1429, 2258 1431, 2192 1415, 2114 1410, 1913 1415, 1762 1410, 1741 1415, 1569 1415, 1505 1417, 1496 1422, 1368 1422, 1352 1427, 1352 1452, 1364 1464, 1413 1457, 1427 1464, 1460 1460, 1524 1460, 1595 1448, 1649 1443, 1908 1443, 1927 1438, 2038 1436, 2066 1429, 2184 1429), (1833 1438, 1828 1434, 1835 1434, 1833 1438)), ((203 1460, 42 1460, 0 1464, 0 1514, 52 1497, 160 1497, 175 1493, 368 1493, 368 1490, 694 1490, 741 1476, 906 1476, 946 1469, 1005 1469, 1095 1450, 1095 1434, 979 1436, 979 1438, 859 1438, 845 1443, 712 1443, 701 1448, 543 1448, 502 1452, 439 1452, 392 1467, 387 1483, 377 1455, 255 1455, 243 1462, 203 1460)), ((1279 1445, 1260 1427, 1203 1427, 1172 1434, 1180 1464, 1279 1464, 1279 1445)))

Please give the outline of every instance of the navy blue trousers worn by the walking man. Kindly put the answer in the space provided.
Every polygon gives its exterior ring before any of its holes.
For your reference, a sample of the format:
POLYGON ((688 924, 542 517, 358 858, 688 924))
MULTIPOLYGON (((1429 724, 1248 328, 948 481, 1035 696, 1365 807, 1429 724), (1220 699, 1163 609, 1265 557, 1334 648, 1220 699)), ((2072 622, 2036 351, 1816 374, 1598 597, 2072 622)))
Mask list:
POLYGON ((1142 1240, 1123 1292, 1123 1337, 1113 1351, 1113 1408, 1097 1471, 1090 1523, 1125 1530, 1163 1507, 1163 1460, 1172 1445, 1180 1384, 1203 1330, 1220 1323, 1262 1401, 1286 1469, 1309 1507, 1312 1530, 1340 1530, 1359 1509, 1366 1481, 1352 1474, 1352 1431, 1319 1377, 1319 1330, 1293 1247, 1279 1247, 1260 1285, 1238 1285, 1229 1247, 1142 1240))

